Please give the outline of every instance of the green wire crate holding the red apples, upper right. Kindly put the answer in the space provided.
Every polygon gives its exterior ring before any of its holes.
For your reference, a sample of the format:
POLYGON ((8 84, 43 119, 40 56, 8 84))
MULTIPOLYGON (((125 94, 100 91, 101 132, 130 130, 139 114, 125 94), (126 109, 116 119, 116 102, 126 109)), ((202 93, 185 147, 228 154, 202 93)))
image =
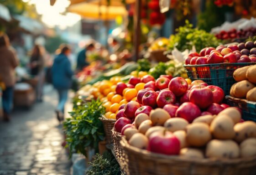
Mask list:
POLYGON ((225 95, 229 95, 230 88, 235 83, 233 72, 237 68, 254 64, 256 62, 183 65, 183 67, 192 81, 203 80, 209 85, 222 88, 225 95))

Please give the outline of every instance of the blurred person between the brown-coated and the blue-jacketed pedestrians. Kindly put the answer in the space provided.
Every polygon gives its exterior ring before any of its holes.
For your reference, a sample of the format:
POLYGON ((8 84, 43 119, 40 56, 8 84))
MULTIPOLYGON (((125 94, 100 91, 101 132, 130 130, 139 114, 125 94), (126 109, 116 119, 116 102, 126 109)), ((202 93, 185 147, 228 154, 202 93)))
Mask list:
POLYGON ((42 102, 44 84, 44 57, 41 46, 35 45, 30 57, 31 75, 36 76, 37 82, 37 101, 42 102))

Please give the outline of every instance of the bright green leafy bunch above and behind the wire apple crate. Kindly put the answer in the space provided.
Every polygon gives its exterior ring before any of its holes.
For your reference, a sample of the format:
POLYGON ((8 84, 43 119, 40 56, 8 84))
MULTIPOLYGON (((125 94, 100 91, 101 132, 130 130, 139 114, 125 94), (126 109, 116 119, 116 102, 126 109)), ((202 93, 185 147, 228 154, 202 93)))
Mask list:
POLYGON ((170 37, 169 50, 173 50, 174 47, 179 51, 191 50, 192 46, 195 46, 196 50, 200 51, 207 46, 216 47, 219 45, 219 41, 214 35, 204 30, 193 28, 193 25, 189 24, 188 20, 186 20, 185 26, 180 26, 176 31, 177 34, 170 37))

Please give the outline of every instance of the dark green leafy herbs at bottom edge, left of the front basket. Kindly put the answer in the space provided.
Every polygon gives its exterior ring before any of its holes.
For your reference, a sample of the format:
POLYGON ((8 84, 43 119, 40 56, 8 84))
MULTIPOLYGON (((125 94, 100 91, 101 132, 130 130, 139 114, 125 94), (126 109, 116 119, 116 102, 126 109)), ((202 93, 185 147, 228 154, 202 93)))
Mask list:
POLYGON ((89 163, 90 168, 85 175, 120 175, 120 166, 113 154, 105 151, 103 155, 96 154, 94 160, 89 163))

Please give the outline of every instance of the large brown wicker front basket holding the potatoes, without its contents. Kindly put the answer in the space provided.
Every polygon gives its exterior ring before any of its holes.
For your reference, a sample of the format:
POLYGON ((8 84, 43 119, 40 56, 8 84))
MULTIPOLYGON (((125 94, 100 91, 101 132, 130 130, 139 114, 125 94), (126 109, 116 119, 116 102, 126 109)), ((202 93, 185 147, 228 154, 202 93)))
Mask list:
POLYGON ((123 138, 130 175, 256 175, 256 157, 234 160, 188 159, 135 148, 123 138))

